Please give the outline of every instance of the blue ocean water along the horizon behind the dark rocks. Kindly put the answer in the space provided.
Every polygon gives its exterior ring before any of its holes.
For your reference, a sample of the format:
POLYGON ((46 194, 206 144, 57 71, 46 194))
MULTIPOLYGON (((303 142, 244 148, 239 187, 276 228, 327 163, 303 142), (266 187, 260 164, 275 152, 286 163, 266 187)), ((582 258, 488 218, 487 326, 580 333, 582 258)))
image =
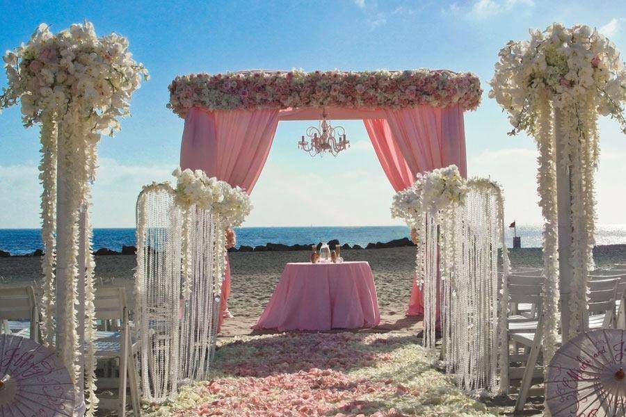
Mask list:
MULTIPOLYGON (((542 228, 537 225, 518 226, 522 247, 540 247, 542 228)), ((257 246, 266 243, 284 245, 309 244, 338 239, 339 242, 365 247, 368 243, 388 242, 409 236, 404 226, 368 227, 240 227, 237 245, 257 246)), ((597 227, 597 245, 626 244, 626 224, 604 224, 597 227)), ((513 245, 513 229, 506 229, 506 243, 513 245)), ((94 248, 122 250, 134 246, 135 229, 94 229, 94 248)), ((0 229, 0 250, 10 254, 27 254, 42 249, 40 229, 0 229)))

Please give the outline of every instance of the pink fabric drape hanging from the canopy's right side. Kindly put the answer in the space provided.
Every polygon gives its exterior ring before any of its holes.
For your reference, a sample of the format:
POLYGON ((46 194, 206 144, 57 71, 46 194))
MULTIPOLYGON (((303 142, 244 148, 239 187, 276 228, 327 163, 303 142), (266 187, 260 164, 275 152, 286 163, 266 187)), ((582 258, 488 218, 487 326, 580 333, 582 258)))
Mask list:
MULTIPOLYGON (((394 190, 410 186, 418 172, 451 164, 467 177, 465 126, 460 106, 386 110, 385 119, 366 119, 364 124, 394 190)), ((424 295, 415 279, 406 315, 424 315, 424 295)))

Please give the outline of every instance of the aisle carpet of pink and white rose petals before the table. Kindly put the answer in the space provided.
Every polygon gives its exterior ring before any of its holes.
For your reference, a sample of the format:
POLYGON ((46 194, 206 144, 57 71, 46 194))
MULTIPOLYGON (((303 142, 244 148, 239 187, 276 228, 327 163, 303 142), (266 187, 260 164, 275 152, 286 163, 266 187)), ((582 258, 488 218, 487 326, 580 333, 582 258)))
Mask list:
POLYGON ((216 352, 209 379, 148 416, 488 416, 429 366, 415 336, 244 336, 216 352))

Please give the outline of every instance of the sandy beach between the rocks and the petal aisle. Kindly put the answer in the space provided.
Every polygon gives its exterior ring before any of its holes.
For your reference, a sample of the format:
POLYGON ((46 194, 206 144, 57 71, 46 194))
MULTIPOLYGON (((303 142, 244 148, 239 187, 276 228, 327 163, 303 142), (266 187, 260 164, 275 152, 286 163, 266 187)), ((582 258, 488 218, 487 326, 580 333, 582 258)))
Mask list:
MULTIPOLYGON (((232 265, 232 293, 228 305, 234 318, 225 320, 220 337, 252 332, 253 325, 270 299, 284 264, 308 260, 310 252, 234 252, 232 265)), ((368 261, 374 272, 378 304, 382 322, 375 332, 410 332, 422 328, 420 318, 406 318, 412 275, 415 269, 415 247, 396 247, 374 250, 344 250, 346 261, 368 261)), ((524 248, 511 250, 513 267, 540 267, 541 250, 524 248)), ((626 245, 597 247, 598 266, 607 267, 626 261, 626 245)), ((99 285, 125 286, 129 303, 133 304, 132 277, 135 257, 128 255, 97 256, 96 277, 99 285)), ((40 280, 40 258, 0 258, 0 286, 19 286, 40 280)))

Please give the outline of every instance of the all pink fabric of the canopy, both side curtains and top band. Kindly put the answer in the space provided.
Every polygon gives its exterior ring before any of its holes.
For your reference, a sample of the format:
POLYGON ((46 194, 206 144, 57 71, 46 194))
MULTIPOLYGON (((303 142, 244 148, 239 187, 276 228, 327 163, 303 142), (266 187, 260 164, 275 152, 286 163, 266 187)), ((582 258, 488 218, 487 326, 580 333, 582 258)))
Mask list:
MULTIPOLYGON (((463 108, 360 110, 325 108, 329 119, 362 119, 378 161, 394 190, 411 186, 418 172, 455 164, 467 177, 463 108)), ((280 120, 318 120, 321 109, 250 109, 209 111, 191 108, 185 119, 180 166, 200 169, 248 191, 259 179, 280 120)), ((222 309, 230 293, 230 268, 223 286, 222 309)), ((422 293, 413 283, 408 315, 422 315, 422 293)))

